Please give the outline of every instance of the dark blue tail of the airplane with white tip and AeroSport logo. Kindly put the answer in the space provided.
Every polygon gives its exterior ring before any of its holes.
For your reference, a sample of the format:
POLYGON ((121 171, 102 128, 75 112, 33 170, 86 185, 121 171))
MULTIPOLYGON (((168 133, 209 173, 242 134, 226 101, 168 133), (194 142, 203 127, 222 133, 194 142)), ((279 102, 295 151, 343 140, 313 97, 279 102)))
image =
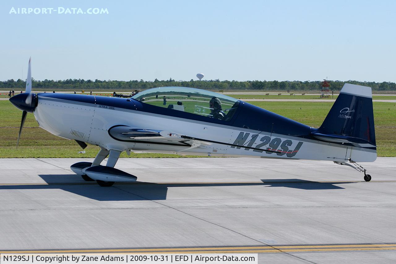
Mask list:
POLYGON ((377 152, 371 88, 344 84, 322 126, 312 132, 312 136, 323 141, 351 146, 352 160, 355 156, 355 161, 374 161, 377 152), (358 154, 354 149, 367 155, 358 154), (362 155, 366 157, 362 158, 362 155))

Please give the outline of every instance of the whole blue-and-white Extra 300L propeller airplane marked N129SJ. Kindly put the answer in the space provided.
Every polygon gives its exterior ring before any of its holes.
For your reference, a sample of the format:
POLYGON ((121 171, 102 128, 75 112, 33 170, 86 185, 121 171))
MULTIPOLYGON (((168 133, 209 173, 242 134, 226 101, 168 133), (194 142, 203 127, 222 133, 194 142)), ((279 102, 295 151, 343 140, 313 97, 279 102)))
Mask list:
POLYGON ((134 182, 114 168, 120 153, 147 151, 207 156, 312 159, 348 165, 377 158, 371 88, 345 84, 320 128, 312 128, 223 94, 186 87, 160 87, 131 98, 81 94, 34 94, 30 60, 26 93, 10 101, 21 109, 18 141, 27 113, 41 128, 100 151, 92 163, 71 169, 100 186, 134 182), (106 158, 106 166, 100 165, 106 158))

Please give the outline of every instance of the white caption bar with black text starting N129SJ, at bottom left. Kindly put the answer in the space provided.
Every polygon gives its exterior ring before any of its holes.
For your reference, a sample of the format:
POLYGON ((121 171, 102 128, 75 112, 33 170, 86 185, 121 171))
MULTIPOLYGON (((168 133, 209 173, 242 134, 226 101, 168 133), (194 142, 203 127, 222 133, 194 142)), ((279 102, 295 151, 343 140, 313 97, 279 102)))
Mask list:
POLYGON ((257 264, 257 254, 1 254, 1 264, 257 264))

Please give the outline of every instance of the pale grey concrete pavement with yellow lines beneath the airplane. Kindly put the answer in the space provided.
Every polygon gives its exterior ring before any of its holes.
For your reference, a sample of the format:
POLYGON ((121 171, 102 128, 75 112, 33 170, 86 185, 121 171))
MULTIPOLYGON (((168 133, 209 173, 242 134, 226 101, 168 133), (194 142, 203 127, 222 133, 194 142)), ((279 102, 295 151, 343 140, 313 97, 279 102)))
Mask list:
POLYGON ((120 159, 135 184, 99 187, 92 159, 0 159, 0 253, 250 252, 270 263, 394 263, 396 158, 120 159), (187 247, 187 248, 186 248, 187 247))

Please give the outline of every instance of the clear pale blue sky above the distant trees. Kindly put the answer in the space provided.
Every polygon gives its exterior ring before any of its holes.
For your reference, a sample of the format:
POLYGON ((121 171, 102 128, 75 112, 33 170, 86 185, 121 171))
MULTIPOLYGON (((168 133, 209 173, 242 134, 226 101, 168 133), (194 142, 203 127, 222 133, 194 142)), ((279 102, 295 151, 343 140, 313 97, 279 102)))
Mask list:
POLYGON ((0 2, 0 80, 396 82, 396 1, 0 2), (109 14, 10 14, 11 8, 109 14))

